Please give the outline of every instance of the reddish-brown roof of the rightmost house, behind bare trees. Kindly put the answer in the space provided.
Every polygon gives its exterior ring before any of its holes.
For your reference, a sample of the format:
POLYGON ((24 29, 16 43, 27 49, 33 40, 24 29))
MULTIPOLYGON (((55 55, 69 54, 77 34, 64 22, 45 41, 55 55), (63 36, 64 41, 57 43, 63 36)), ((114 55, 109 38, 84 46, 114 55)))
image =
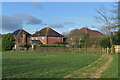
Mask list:
POLYGON ((83 32, 83 33, 86 33, 88 34, 89 36, 91 37, 96 37, 96 36, 105 36, 104 34, 102 34, 101 32, 99 31, 96 31, 96 30, 90 30, 86 27, 84 28, 81 28, 79 31, 83 32))

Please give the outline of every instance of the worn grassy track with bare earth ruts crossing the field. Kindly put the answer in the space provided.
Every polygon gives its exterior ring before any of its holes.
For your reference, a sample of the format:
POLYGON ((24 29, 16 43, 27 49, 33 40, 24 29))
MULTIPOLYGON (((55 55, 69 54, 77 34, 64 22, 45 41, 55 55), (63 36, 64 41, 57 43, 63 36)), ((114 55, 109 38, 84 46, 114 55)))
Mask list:
POLYGON ((64 78, 101 78, 101 73, 105 71, 113 58, 109 54, 103 54, 98 60, 92 64, 83 67, 71 74, 66 75, 64 78))

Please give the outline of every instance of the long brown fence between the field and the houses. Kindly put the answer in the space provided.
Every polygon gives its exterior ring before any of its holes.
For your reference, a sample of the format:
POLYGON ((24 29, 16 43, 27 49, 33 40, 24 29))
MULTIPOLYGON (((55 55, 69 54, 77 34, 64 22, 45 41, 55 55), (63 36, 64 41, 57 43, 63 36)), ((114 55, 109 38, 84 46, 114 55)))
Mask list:
POLYGON ((37 47, 35 52, 103 53, 101 48, 37 47))

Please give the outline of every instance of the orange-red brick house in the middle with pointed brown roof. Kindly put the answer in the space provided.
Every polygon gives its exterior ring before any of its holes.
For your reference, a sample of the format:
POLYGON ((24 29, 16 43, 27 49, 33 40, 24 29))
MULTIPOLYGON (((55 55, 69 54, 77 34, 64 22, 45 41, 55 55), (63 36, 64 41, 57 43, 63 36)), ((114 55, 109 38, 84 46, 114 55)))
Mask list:
POLYGON ((30 38, 31 40, 40 40, 43 44, 53 44, 55 42, 64 42, 64 36, 55 30, 45 27, 37 31, 30 38))

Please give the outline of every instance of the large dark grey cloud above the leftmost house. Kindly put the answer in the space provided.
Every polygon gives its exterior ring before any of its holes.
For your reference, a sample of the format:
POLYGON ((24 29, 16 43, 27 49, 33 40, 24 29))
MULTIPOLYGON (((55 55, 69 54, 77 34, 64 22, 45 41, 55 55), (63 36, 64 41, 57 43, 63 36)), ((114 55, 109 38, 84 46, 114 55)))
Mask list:
POLYGON ((34 16, 28 14, 15 14, 12 16, 1 15, 2 17, 2 31, 14 31, 23 28, 24 24, 38 25, 42 21, 34 16))

